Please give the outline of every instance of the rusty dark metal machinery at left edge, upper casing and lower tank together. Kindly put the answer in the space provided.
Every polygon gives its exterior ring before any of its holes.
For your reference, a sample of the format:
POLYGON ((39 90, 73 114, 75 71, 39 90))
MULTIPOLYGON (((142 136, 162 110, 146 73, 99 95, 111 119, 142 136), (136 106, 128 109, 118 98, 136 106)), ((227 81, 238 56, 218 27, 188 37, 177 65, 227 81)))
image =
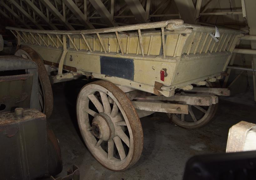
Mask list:
POLYGON ((35 62, 18 56, 0 56, 3 179, 34 179, 62 170, 58 140, 41 113, 43 96, 39 85, 35 62))

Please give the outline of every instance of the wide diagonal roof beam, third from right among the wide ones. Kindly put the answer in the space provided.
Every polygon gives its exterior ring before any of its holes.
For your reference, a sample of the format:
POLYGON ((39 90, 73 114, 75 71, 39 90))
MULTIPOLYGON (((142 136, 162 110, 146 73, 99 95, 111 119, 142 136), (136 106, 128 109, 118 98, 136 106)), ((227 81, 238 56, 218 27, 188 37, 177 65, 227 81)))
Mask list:
POLYGON ((108 12, 108 9, 105 7, 101 0, 89 0, 93 7, 97 10, 99 15, 104 19, 109 27, 117 26, 111 21, 111 14, 108 12))

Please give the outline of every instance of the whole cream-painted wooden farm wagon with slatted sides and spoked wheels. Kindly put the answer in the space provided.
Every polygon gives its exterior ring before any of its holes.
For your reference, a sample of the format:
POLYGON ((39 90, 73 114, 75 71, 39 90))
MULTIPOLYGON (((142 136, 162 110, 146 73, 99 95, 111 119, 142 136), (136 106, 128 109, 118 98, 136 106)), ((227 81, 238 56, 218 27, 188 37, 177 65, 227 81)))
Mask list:
POLYGON ((78 125, 92 155, 115 171, 141 155, 139 118, 164 112, 184 128, 199 128, 213 118, 217 95, 230 92, 211 83, 221 78, 244 36, 219 28, 217 39, 215 27, 182 20, 82 31, 7 29, 18 40, 16 55, 38 63, 42 109, 48 116, 52 92, 44 65, 58 69, 54 82, 98 79, 78 95, 78 125))

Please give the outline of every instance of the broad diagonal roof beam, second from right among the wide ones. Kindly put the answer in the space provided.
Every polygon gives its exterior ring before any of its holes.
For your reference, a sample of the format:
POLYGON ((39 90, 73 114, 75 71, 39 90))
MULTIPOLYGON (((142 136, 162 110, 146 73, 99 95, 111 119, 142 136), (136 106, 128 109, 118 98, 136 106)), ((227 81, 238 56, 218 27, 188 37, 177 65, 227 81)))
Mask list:
POLYGON ((128 4, 130 10, 132 11, 137 21, 140 23, 145 23, 146 12, 143 6, 141 5, 141 3, 139 2, 139 0, 124 0, 124 1, 128 4))

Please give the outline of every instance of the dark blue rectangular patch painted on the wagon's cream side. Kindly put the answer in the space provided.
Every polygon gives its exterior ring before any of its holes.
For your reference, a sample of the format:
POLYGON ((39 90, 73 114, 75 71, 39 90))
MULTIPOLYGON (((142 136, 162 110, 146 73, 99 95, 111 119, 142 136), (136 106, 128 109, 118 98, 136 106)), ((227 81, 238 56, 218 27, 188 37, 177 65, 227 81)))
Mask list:
POLYGON ((100 72, 108 76, 133 80, 133 59, 100 56, 100 72))

